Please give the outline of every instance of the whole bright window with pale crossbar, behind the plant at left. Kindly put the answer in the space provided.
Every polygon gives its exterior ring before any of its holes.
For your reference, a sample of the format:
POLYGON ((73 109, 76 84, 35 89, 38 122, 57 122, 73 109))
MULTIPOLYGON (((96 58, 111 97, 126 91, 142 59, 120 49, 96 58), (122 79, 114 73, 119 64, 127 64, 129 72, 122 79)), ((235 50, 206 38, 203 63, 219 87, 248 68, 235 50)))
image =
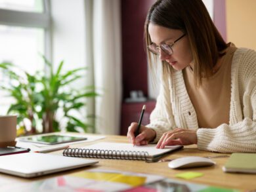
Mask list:
MULTIPOLYGON (((51 58, 48 0, 0 0, 0 63, 11 62, 32 73, 43 70, 40 54, 51 58)), ((0 81, 4 74, 0 74, 0 81)), ((0 115, 11 100, 0 92, 0 115)))

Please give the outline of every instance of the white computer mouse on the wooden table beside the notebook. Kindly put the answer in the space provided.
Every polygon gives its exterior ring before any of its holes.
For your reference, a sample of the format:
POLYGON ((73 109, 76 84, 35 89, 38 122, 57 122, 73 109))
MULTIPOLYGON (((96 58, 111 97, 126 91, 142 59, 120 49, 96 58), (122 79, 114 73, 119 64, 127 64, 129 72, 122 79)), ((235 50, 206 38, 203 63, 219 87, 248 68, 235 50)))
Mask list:
POLYGON ((198 166, 211 166, 216 164, 209 158, 206 157, 181 157, 178 159, 174 159, 168 163, 169 168, 191 168, 198 166))

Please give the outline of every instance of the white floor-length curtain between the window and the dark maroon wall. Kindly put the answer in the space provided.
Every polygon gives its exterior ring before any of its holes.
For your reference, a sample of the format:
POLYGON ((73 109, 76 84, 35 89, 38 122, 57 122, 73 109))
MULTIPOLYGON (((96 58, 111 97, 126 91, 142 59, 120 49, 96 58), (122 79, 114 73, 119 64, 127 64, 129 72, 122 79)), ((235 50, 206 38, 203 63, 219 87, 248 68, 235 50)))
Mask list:
POLYGON ((90 100, 96 132, 119 134, 121 115, 121 1, 85 0, 85 50, 89 85, 100 90, 90 100))

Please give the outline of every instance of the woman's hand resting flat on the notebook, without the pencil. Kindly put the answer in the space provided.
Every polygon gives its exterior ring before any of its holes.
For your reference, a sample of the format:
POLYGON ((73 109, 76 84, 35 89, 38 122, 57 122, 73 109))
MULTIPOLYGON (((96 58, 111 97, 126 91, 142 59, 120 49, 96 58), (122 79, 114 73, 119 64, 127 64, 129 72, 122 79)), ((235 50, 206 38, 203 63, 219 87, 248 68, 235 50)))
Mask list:
POLYGON ((165 132, 156 147, 163 149, 165 145, 192 145, 197 143, 198 137, 195 130, 175 128, 174 130, 165 132))

